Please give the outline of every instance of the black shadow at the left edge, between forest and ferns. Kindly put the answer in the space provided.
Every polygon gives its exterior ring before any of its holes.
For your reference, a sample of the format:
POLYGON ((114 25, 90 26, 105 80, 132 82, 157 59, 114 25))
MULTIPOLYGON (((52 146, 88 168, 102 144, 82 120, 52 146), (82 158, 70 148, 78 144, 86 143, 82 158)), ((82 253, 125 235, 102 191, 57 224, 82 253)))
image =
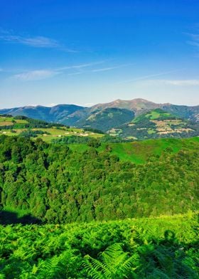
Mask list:
POLYGON ((1 210, 0 211, 0 224, 1 225, 11 225, 16 223, 22 223, 23 225, 31 224, 31 223, 41 223, 41 220, 36 217, 31 216, 31 214, 27 214, 23 217, 18 217, 15 212, 1 210))

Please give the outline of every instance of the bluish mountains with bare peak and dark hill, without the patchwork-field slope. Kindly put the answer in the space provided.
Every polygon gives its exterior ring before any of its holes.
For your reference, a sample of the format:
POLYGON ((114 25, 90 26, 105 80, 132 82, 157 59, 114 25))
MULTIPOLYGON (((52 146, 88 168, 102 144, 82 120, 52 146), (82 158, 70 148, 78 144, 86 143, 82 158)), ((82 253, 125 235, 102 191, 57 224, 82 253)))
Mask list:
POLYGON ((0 114, 24 115, 48 122, 58 122, 74 127, 92 127, 107 132, 107 130, 131 122, 134 117, 156 109, 164 110, 173 116, 181 117, 188 121, 199 122, 199 106, 158 104, 140 98, 115 100, 114 102, 97 104, 92 107, 78 105, 14 107, 0 110, 0 114))

